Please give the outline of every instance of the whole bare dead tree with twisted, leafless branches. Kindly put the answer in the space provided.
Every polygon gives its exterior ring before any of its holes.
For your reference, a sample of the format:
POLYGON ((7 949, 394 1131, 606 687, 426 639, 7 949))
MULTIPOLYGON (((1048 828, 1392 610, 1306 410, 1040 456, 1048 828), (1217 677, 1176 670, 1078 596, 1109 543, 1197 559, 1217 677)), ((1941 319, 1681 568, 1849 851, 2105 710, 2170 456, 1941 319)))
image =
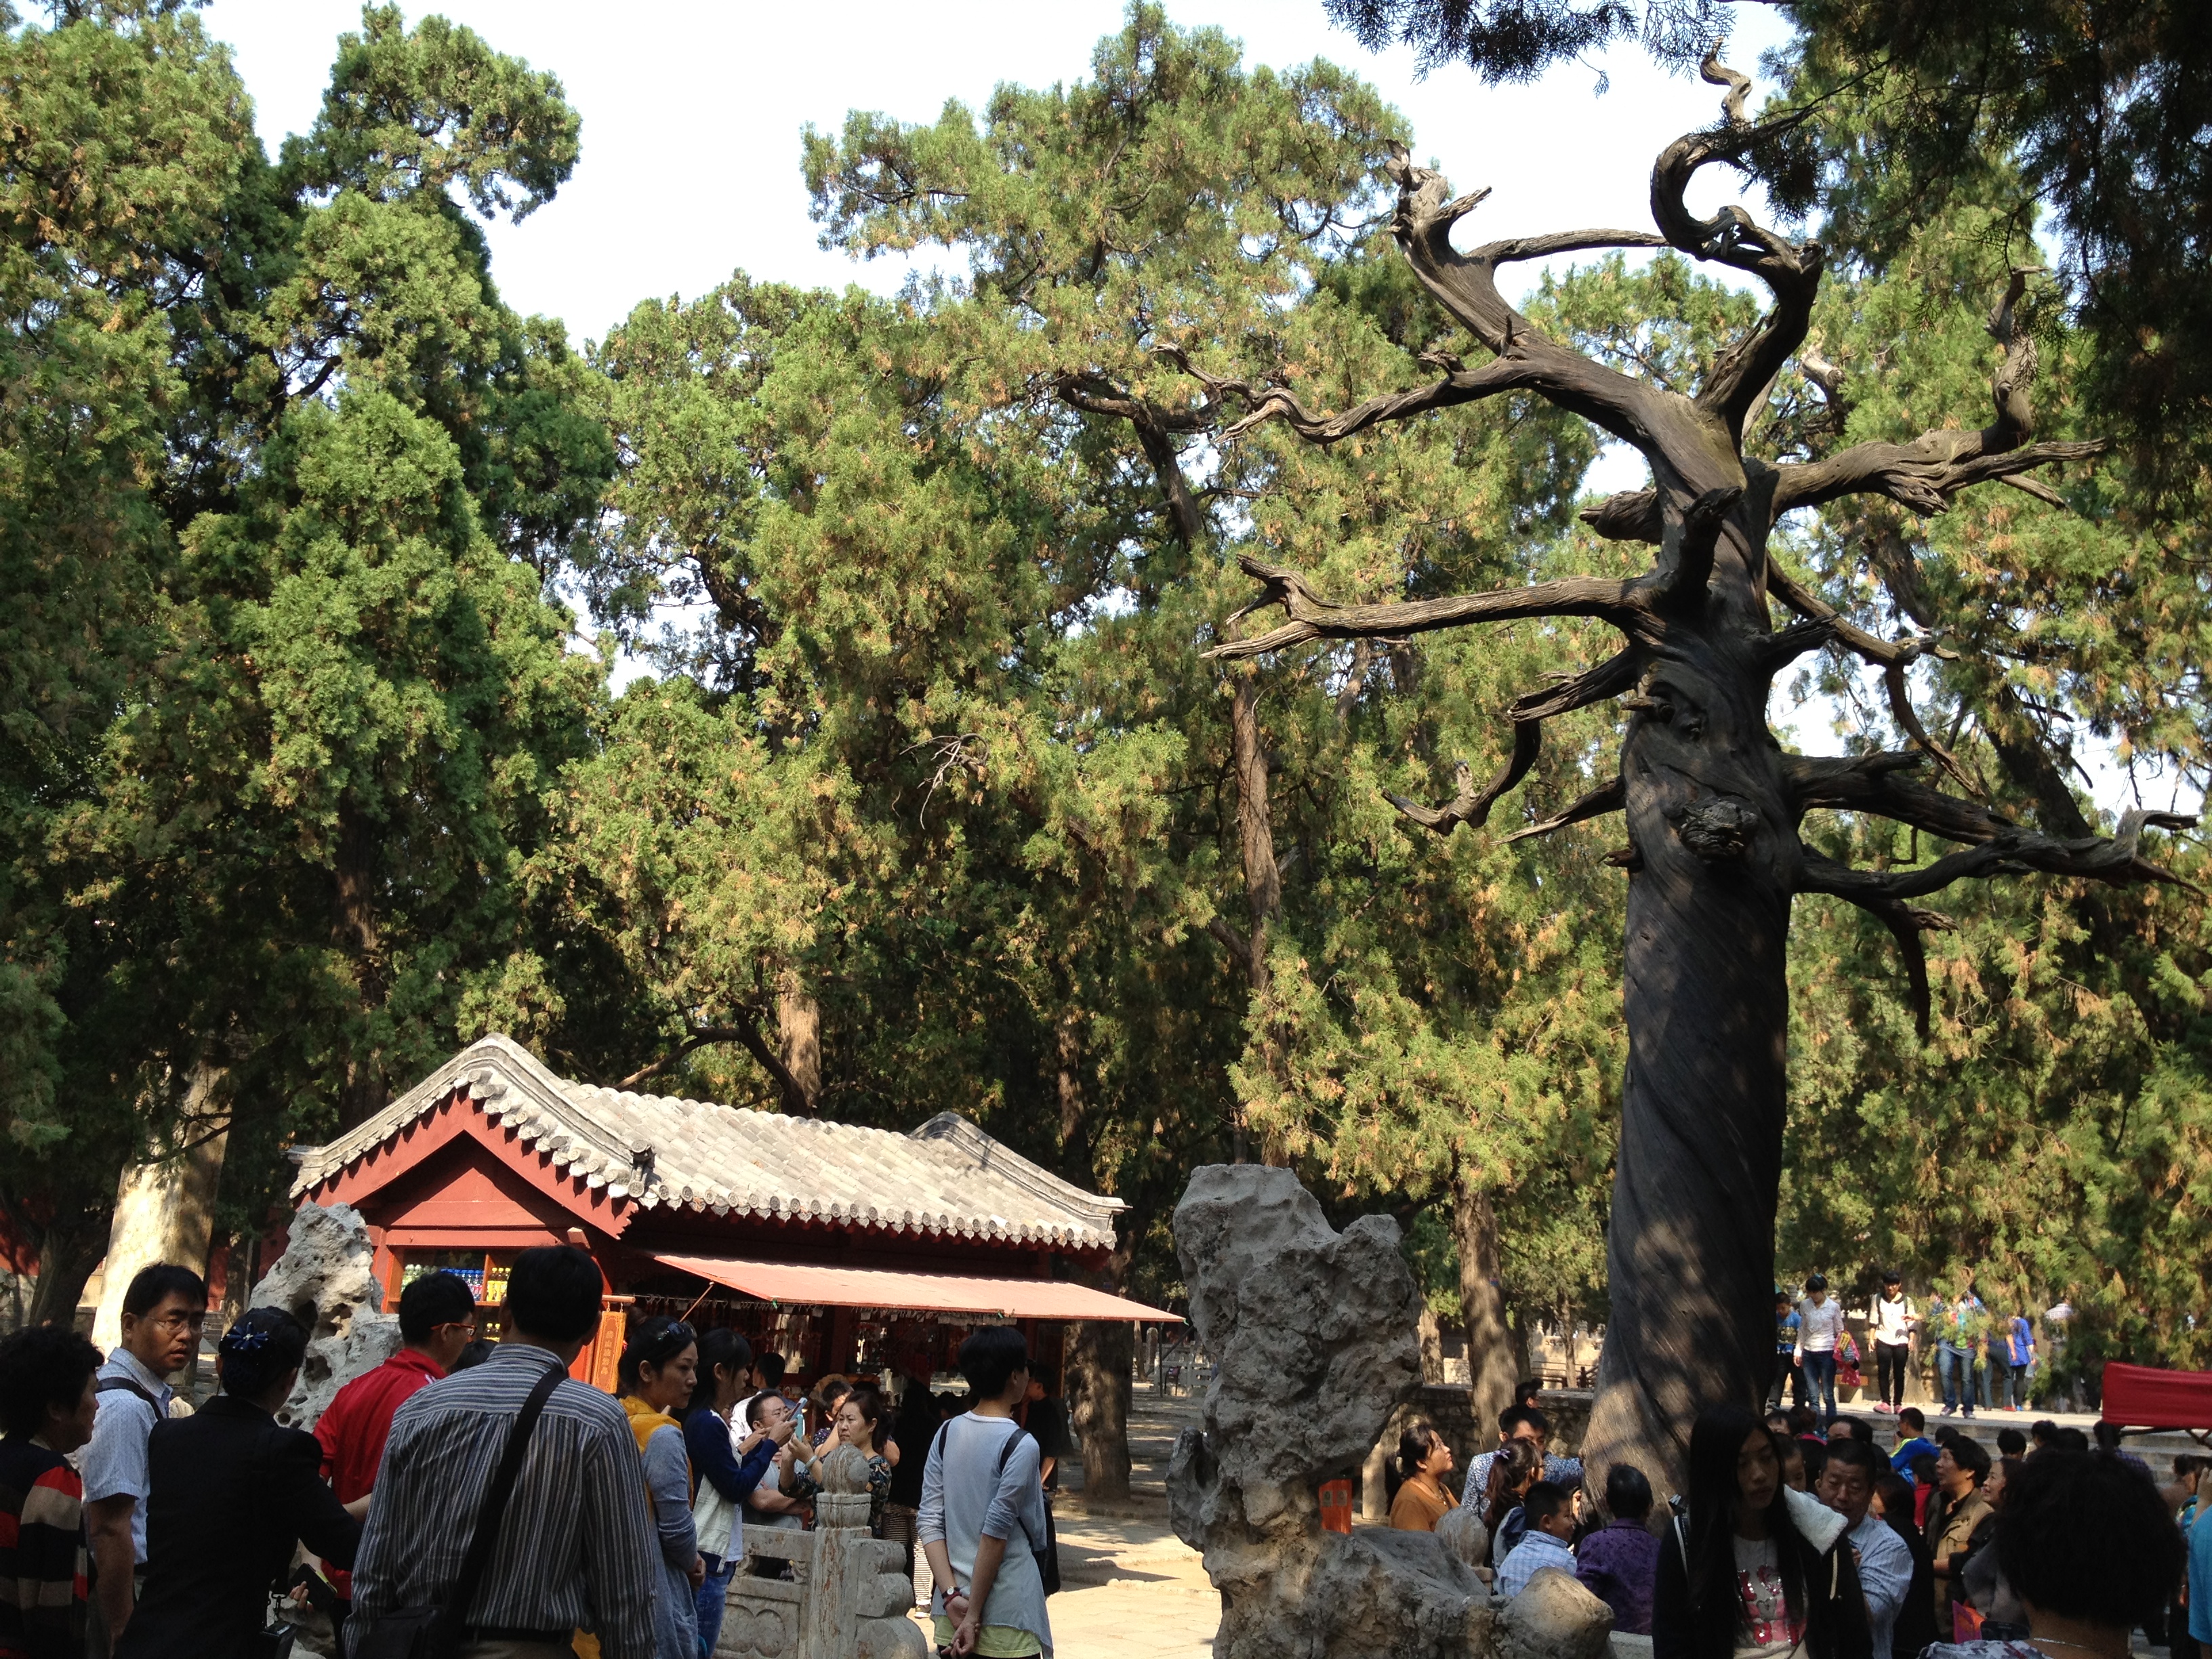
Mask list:
MULTIPOLYGON (((1243 568, 1263 584, 1263 595, 1239 615, 1281 606, 1285 622, 1210 653, 1259 657, 1314 639, 1405 637, 1517 617, 1595 617, 1619 633, 1617 655, 1513 703, 1513 748, 1495 776, 1475 787, 1462 768, 1458 794, 1442 807, 1398 803, 1411 821, 1442 834, 1482 825, 1535 763, 1546 719, 1606 699, 1628 710, 1619 776, 1520 832, 1546 834, 1610 812, 1624 812, 1628 827, 1628 845, 1615 854, 1628 869, 1628 1077, 1608 1237, 1613 1318, 1588 1440, 1599 1480, 1613 1458, 1635 1458, 1679 1480, 1699 1407, 1752 1400, 1774 1363, 1770 1296, 1792 898, 1834 894, 1878 916, 1905 951, 1924 1031, 1920 931, 1944 920, 1916 900, 1962 876, 2031 869, 2117 885, 2174 880, 2141 856, 2139 838, 2150 825, 2192 823, 2128 812, 2112 838, 2055 838, 1916 781, 1911 772, 1922 761, 1955 772, 1907 699, 1905 670, 1933 639, 1878 639, 1767 560, 1767 535, 1792 509, 1876 493, 1918 513, 1940 513, 1958 491, 1993 480, 2057 500, 2022 473, 2093 456, 2104 445, 2033 440, 2035 347, 2015 327, 2024 292, 2015 274, 1989 323, 2002 363, 1995 414, 1980 431, 1867 442, 1803 465, 1745 456, 1747 425, 1805 341, 1820 246, 1790 243, 1741 208, 1697 219, 1683 206, 1697 168, 1739 159, 1763 135, 1743 117, 1750 82, 1712 58, 1703 73, 1730 88, 1725 117, 1670 144, 1652 168, 1659 234, 1579 230, 1493 241, 1462 254, 1451 246, 1451 228, 1486 192, 1453 197, 1442 177, 1398 153, 1389 168, 1398 184, 1398 246, 1429 294, 1491 352, 1489 363, 1464 367, 1431 356, 1444 369, 1440 380, 1318 416, 1279 383, 1223 380, 1175 354, 1206 385, 1208 403, 1241 398, 1250 409, 1228 436, 1279 420, 1325 445, 1385 420, 1522 392, 1595 422, 1650 462, 1652 489, 1615 495, 1584 515, 1601 535, 1657 546, 1652 566, 1635 580, 1332 604, 1296 571, 1245 557, 1243 568), (1772 310, 1719 354, 1694 398, 1559 345, 1498 292, 1498 268, 1513 261, 1661 246, 1750 272, 1772 294, 1772 310), (1785 626, 1770 613, 1776 602, 1794 613, 1785 626), (1847 759, 1783 752, 1767 730, 1767 688, 1787 661, 1827 644, 1882 670, 1911 750, 1847 759), (1958 852, 1924 869, 1849 869, 1798 838, 1814 807, 1880 814, 1958 843, 1958 852)), ((1829 365, 1818 358, 1801 365, 1825 389, 1829 365)))

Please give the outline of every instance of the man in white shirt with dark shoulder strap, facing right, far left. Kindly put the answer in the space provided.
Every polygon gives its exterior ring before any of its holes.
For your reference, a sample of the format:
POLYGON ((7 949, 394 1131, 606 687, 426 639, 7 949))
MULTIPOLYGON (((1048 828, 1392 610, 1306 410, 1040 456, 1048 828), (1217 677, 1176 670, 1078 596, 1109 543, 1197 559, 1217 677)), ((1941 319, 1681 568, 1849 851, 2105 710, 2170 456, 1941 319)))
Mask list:
POLYGON ((100 1416, 84 1447, 84 1531, 93 1546, 88 1650, 104 1659, 146 1577, 146 1442, 168 1416, 168 1378, 199 1354, 208 1283, 190 1267, 142 1267, 124 1292, 122 1340, 100 1367, 100 1416))

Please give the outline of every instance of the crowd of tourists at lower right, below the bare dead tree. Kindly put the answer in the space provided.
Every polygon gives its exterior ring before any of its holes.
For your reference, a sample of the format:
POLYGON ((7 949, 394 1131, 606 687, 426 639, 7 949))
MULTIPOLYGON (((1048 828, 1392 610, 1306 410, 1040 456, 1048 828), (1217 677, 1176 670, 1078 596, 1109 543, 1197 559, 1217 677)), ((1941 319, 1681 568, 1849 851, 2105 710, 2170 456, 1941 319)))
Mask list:
POLYGON ((1909 1405, 1893 1407, 1889 1447, 1871 1420, 1814 1405, 1712 1407, 1666 1513, 1652 1515, 1650 1478, 1617 1462, 1599 1515, 1582 1464, 1551 1453, 1533 1394, 1500 1416, 1460 1495, 1444 1436, 1409 1427, 1391 1526, 1436 1531, 1480 1504, 1495 1595, 1555 1568, 1657 1659, 2119 1659, 2135 1630, 2199 1659, 2212 1641, 2212 1526, 2194 1524, 2212 1460, 2181 1455, 2159 1486, 2108 1422, 2095 1440, 2051 1420, 2006 1427, 1991 1458, 1958 1425, 1929 1433, 1909 1405))

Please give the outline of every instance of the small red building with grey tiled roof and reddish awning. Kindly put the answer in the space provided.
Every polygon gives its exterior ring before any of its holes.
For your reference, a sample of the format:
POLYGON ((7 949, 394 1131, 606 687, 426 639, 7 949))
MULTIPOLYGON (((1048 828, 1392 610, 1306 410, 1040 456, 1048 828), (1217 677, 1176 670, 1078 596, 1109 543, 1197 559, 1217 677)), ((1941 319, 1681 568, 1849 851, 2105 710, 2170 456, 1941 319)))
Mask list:
POLYGON ((613 1383, 626 1312, 734 1325, 792 1371, 947 1369, 969 1327, 1175 1318, 1075 1283, 1119 1199, 1084 1192, 940 1113, 911 1135, 555 1077, 484 1037, 330 1146, 296 1148, 296 1203, 349 1203, 385 1305, 418 1272, 469 1276, 498 1325, 518 1250, 582 1243, 608 1312, 577 1376, 613 1383))

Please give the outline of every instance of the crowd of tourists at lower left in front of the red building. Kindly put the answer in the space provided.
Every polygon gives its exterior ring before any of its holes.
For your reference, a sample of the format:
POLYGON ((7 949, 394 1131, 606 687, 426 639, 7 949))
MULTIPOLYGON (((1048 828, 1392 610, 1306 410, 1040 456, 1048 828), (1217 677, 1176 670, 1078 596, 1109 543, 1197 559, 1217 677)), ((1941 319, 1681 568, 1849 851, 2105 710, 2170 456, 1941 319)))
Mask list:
MULTIPOLYGON (((321 1608, 352 1659, 706 1659, 743 1566, 792 1551, 858 1453, 869 1531, 920 1551, 938 1646, 1051 1652, 1048 1486, 1066 1413, 1018 1329, 960 1347, 964 1398, 909 1378, 785 1387, 732 1329, 633 1321, 608 1396, 568 1376, 602 1279, 568 1245, 524 1250, 504 1332, 478 1338, 458 1274, 411 1281, 400 1349, 314 1433, 285 1427, 307 1332, 281 1307, 217 1347, 221 1391, 173 1411, 208 1290, 139 1272, 106 1356, 69 1327, 0 1343, 0 1659, 259 1659, 285 1599, 321 1608)), ((845 1486, 847 1491, 852 1486, 845 1486)))

